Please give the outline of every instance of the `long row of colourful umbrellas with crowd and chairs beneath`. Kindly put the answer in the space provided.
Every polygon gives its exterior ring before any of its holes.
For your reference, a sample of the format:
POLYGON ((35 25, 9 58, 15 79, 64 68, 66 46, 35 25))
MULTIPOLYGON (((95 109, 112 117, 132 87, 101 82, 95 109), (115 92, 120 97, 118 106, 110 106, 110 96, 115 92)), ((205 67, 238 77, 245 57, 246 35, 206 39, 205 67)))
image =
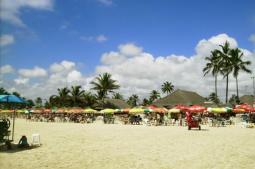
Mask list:
MULTIPOLYGON (((1 114, 13 112, 12 110, 1 110, 1 114)), ((190 112, 201 119, 202 124, 210 123, 211 126, 224 126, 234 124, 231 117, 236 114, 247 114, 251 117, 250 122, 254 123, 255 108, 247 104, 230 107, 203 107, 200 105, 175 105, 171 109, 157 107, 154 105, 147 107, 134 107, 126 109, 95 110, 92 108, 52 108, 52 109, 22 109, 16 110, 19 117, 29 121, 38 122, 74 122, 93 123, 102 120, 105 124, 145 124, 145 125, 178 125, 186 126, 185 112, 190 112), (219 125, 220 124, 220 125, 219 125)))

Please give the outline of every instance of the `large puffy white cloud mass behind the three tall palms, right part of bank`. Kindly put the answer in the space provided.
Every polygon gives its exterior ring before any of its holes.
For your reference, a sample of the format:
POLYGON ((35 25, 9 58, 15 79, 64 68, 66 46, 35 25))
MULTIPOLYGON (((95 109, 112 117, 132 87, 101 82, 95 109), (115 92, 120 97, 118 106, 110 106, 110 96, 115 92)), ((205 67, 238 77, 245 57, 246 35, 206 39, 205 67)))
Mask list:
MULTIPOLYGON (((211 75, 203 76, 202 69, 205 66, 205 57, 210 51, 219 48, 218 45, 230 42, 232 48, 237 47, 234 38, 226 34, 203 39, 196 46, 196 54, 191 57, 186 56, 160 56, 155 57, 144 52, 141 47, 134 44, 124 44, 119 46, 118 51, 104 53, 101 57, 102 65, 97 66, 96 73, 109 72, 118 80, 121 85, 120 92, 127 97, 137 93, 140 97, 148 96, 151 90, 160 91, 161 84, 171 81, 176 88, 193 90, 203 96, 208 96, 214 91, 214 78, 211 75)), ((252 61, 249 68, 255 72, 255 54, 242 49, 244 59, 252 61)), ((219 78, 219 94, 223 99, 225 94, 225 79, 219 78)), ((239 76, 240 93, 244 93, 244 86, 250 86, 250 75, 240 73, 239 76)), ((230 94, 235 94, 235 80, 231 76, 229 85, 230 94)))

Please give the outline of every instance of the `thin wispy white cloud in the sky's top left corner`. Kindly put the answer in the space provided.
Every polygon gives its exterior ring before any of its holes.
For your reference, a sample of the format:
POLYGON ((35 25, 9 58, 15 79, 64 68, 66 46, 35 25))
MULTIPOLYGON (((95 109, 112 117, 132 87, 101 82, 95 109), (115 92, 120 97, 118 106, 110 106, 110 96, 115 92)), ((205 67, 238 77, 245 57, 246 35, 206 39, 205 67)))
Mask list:
POLYGON ((0 18, 3 21, 24 27, 25 24, 20 19, 22 8, 51 10, 52 7, 53 0, 1 0, 0 18))

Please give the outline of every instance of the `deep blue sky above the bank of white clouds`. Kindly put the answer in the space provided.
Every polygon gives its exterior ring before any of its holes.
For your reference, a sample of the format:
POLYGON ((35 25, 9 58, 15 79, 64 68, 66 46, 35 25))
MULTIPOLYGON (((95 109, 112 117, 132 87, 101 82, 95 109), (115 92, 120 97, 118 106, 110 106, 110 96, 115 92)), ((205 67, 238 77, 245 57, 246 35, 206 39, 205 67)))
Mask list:
POLYGON ((155 58, 173 54, 189 58, 196 54, 200 40, 219 34, 254 51, 254 0, 11 1, 4 12, 16 20, 1 16, 0 28, 1 36, 13 39, 1 46, 0 66, 8 64, 17 71, 34 66, 48 69, 68 60, 88 76, 97 72, 104 53, 127 43, 155 58))

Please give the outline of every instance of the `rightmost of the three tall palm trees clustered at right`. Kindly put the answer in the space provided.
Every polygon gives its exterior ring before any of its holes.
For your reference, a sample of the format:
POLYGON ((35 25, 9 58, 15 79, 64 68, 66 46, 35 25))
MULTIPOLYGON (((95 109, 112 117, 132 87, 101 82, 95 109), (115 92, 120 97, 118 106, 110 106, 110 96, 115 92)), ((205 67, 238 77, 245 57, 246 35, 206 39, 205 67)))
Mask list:
POLYGON ((231 62, 233 65, 233 76, 236 79, 236 97, 239 99, 239 92, 238 92, 238 75, 240 71, 244 71, 246 73, 251 73, 251 70, 248 69, 246 66, 251 65, 250 61, 243 61, 243 52, 238 49, 231 49, 230 50, 231 62))

